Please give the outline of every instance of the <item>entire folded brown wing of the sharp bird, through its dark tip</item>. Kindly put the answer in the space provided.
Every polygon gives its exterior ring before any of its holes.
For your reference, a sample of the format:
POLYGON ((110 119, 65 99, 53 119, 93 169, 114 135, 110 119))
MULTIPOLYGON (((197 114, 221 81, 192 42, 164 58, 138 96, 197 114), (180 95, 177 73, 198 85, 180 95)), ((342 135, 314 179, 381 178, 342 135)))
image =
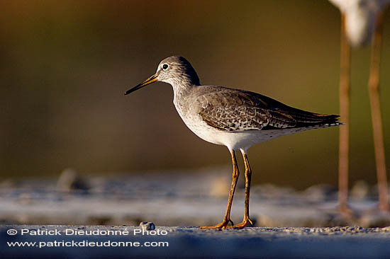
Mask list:
POLYGON ((306 127, 336 122, 338 117, 299 110, 258 93, 232 89, 206 93, 196 101, 204 122, 226 132, 306 127))

